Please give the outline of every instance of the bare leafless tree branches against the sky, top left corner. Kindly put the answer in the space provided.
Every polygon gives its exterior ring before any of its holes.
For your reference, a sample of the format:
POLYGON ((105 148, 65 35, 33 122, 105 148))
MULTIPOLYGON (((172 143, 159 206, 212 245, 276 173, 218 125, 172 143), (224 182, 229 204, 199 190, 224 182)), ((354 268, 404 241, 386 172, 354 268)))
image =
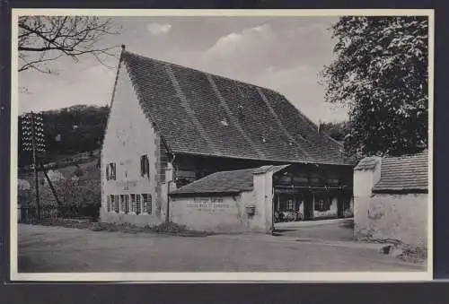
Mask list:
POLYGON ((34 69, 52 74, 48 62, 61 56, 75 61, 91 55, 101 64, 114 47, 99 47, 101 38, 119 34, 109 19, 92 16, 21 16, 19 17, 19 72, 34 69))

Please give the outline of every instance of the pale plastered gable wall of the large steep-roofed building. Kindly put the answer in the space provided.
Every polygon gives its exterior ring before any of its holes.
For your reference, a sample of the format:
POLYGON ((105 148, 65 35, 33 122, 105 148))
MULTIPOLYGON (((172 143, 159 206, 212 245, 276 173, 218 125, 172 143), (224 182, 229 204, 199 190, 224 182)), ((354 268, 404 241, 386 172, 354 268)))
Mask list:
MULTIPOLYGON (((161 198, 156 191, 159 138, 137 101, 125 65, 120 66, 115 90, 101 151, 101 221, 136 225, 159 223, 164 220, 158 207, 161 198), (140 175, 140 157, 144 154, 150 161, 150 178, 140 175), (106 165, 110 162, 116 163, 116 180, 106 180, 106 165), (107 195, 130 194, 152 195, 152 214, 107 211, 107 195)), ((129 202, 131 209, 130 198, 129 202)))

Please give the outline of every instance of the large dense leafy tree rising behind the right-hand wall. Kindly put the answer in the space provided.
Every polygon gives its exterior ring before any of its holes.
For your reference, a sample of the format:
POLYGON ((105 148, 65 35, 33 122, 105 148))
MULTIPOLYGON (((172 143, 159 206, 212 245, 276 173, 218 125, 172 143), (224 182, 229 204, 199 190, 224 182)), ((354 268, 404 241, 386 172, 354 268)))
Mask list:
POLYGON ((348 151, 419 152, 427 147, 427 17, 341 17, 335 57, 321 74, 325 100, 348 107, 348 151))

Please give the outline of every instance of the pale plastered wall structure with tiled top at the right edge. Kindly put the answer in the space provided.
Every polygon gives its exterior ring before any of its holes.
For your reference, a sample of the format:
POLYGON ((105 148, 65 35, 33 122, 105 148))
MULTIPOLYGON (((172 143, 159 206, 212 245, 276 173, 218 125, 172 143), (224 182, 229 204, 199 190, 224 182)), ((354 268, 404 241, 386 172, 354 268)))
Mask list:
POLYGON ((369 157, 354 169, 354 221, 359 239, 427 247, 428 152, 369 157))

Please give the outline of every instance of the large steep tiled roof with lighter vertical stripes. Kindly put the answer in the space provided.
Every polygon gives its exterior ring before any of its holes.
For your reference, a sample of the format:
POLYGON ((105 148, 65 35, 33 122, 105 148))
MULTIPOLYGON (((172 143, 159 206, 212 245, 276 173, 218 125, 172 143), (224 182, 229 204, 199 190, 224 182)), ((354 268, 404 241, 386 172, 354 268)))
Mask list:
POLYGON ((341 145, 276 91, 128 51, 121 58, 172 152, 348 164, 341 145))

